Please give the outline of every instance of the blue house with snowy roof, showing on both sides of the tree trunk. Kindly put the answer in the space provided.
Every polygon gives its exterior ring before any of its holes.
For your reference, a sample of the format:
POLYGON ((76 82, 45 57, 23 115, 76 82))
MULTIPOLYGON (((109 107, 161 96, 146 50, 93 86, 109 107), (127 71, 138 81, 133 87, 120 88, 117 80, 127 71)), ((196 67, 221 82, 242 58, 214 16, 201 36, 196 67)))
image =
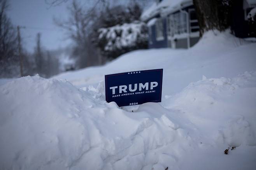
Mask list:
MULTIPOLYGON (((240 0, 235 5, 231 29, 237 37, 248 37, 247 14, 255 6, 256 0, 240 0)), ((155 0, 141 19, 148 26, 149 48, 189 48, 200 38, 193 0, 155 0)))

